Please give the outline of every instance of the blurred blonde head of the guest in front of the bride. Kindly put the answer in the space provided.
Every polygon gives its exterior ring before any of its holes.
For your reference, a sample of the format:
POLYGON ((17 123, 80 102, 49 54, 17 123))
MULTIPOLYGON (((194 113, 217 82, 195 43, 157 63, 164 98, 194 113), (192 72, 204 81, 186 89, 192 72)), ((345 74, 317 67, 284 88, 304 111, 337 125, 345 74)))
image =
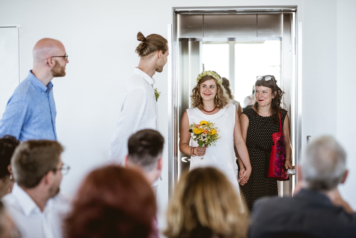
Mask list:
POLYGON ((246 237, 238 195, 213 167, 196 168, 179 180, 168 205, 169 238, 246 237))

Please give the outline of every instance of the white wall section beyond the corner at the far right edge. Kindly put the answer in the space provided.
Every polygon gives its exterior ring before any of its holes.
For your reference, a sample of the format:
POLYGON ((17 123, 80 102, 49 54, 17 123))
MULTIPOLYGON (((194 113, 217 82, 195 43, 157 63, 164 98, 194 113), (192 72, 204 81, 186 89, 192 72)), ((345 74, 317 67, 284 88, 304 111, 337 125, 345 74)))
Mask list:
MULTIPOLYGON (((356 55, 356 1, 337 1, 337 139, 342 142, 348 155, 349 177, 340 186, 351 206, 356 208, 356 160, 355 160, 355 104, 353 103, 356 55)), ((335 81, 333 84, 336 83, 335 81)), ((334 93, 334 91, 331 91, 334 93)), ((328 93, 326 93, 327 95, 328 93)))

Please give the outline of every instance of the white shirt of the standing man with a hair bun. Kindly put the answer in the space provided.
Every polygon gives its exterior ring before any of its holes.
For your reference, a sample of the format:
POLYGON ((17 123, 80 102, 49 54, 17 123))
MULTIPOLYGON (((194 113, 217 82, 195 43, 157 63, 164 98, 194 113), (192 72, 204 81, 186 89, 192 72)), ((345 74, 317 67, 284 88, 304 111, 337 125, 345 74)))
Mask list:
POLYGON ((122 101, 115 132, 111 137, 109 162, 124 166, 129 137, 140 130, 158 130, 158 108, 153 84, 155 80, 135 68, 122 88, 122 101))

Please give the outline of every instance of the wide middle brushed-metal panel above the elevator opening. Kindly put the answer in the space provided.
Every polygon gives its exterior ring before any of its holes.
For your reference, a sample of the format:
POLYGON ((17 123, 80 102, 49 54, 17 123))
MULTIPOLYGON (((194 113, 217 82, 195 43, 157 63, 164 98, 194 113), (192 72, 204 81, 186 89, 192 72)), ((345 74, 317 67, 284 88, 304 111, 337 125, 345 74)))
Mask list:
POLYGON ((204 14, 204 38, 256 36, 256 14, 204 14))

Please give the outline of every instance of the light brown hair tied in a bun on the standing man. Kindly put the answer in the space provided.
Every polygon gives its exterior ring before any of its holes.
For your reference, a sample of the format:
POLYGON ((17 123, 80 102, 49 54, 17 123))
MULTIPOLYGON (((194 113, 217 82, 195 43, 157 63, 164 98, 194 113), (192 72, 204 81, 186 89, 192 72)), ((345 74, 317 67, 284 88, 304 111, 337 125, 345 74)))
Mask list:
POLYGON ((135 52, 140 56, 144 57, 152 52, 162 50, 162 53, 165 54, 168 50, 167 40, 158 34, 151 34, 147 37, 143 36, 141 32, 137 33, 137 40, 141 43, 136 47, 135 52))

